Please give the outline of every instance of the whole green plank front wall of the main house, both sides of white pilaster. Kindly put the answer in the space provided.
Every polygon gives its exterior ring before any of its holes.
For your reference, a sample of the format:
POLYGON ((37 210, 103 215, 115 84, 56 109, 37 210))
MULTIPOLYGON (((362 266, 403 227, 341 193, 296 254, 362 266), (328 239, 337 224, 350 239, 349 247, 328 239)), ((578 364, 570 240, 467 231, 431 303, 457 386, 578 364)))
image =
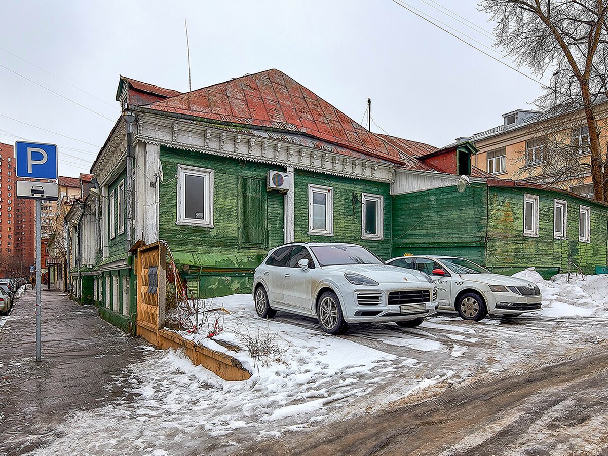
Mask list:
MULTIPOLYGON (((165 181, 159 188, 159 238, 170 246, 176 264, 188 282, 198 282, 199 296, 214 297, 251 291, 253 270, 269 249, 283 243, 283 194, 267 192, 266 246, 240 248, 238 240, 238 178, 266 180, 268 171, 285 171, 280 166, 238 161, 195 151, 161 147, 165 181), (176 224, 178 164, 212 169, 213 228, 176 224)), ((390 257, 390 184, 340 178, 320 173, 295 171, 295 240, 339 241, 363 244, 380 257, 390 257), (334 188, 334 236, 308 235, 308 184, 334 188), (361 239, 361 204, 353 193, 384 196, 384 240, 361 239)))

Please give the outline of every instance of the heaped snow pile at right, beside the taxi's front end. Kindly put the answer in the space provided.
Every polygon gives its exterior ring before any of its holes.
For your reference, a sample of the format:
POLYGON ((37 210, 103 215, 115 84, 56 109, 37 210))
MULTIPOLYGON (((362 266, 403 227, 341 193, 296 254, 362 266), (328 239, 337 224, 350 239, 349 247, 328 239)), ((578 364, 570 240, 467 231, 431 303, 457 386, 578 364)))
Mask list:
POLYGON ((533 268, 513 277, 535 283, 542 293, 541 314, 547 317, 589 317, 608 309, 608 275, 558 274, 544 280, 533 268))

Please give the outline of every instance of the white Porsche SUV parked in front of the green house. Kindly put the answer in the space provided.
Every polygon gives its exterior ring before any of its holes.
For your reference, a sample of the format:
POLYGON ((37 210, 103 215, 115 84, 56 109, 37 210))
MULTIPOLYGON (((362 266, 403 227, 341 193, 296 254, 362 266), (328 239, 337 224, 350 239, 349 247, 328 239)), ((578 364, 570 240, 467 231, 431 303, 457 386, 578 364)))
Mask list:
POLYGON ((282 310, 316 317, 328 334, 344 333, 348 323, 411 328, 437 309, 437 287, 428 275, 388 266, 356 244, 276 247, 255 269, 253 294, 258 316, 282 310))

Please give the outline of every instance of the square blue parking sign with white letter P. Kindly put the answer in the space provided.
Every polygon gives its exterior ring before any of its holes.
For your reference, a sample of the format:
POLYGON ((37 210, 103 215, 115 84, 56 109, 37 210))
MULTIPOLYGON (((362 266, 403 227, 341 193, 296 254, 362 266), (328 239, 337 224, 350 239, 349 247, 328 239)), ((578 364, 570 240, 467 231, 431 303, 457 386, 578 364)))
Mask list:
POLYGON ((57 146, 54 144, 17 141, 15 160, 18 178, 57 179, 57 146))

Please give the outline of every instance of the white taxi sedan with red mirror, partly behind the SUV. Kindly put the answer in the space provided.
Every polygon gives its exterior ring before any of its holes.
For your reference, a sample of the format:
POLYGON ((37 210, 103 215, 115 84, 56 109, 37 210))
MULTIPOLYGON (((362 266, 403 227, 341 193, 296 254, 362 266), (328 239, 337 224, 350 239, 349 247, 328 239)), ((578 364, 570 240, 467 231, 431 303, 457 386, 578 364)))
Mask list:
POLYGON ((534 283, 493 274, 465 258, 409 256, 387 263, 429 274, 437 284, 439 308, 457 311, 464 320, 480 321, 488 314, 517 317, 541 308, 541 291, 534 283))

